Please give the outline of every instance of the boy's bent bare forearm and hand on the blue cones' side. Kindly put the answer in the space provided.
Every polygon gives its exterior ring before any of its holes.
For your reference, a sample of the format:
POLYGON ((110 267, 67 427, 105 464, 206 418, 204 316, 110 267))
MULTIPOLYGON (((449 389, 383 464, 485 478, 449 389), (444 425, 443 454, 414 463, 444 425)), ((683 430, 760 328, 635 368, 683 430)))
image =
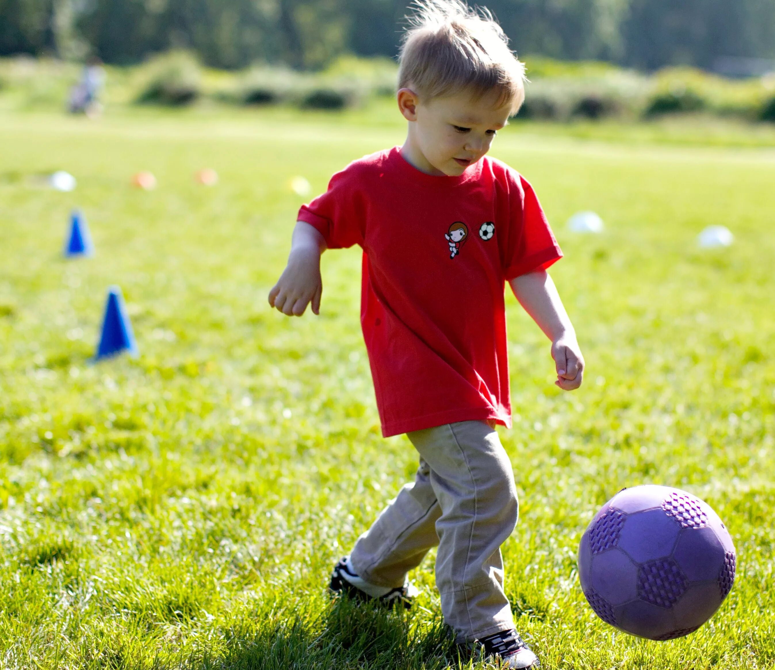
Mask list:
POLYGON ((325 239, 315 227, 296 222, 288 265, 269 292, 272 307, 287 316, 301 316, 312 301, 312 312, 320 314, 320 256, 324 251, 325 239))

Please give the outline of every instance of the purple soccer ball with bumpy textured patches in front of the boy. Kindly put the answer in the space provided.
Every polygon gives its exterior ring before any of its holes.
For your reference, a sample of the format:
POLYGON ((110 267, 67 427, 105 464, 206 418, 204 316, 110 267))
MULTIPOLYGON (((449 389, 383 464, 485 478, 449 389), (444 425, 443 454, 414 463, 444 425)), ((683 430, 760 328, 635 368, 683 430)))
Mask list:
POLYGON ((605 503, 581 538, 579 579, 606 624, 649 640, 694 633, 735 581, 735 545, 708 503, 635 486, 605 503))

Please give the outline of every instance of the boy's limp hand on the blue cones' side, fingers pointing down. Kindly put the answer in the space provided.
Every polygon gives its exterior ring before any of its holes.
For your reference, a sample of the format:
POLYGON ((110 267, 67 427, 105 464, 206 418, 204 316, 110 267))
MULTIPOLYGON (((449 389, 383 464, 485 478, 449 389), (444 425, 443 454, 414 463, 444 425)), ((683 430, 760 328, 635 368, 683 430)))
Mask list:
POLYGON ((294 249, 288 266, 269 292, 269 304, 287 316, 301 316, 312 301, 313 314, 320 314, 323 282, 317 249, 294 249))

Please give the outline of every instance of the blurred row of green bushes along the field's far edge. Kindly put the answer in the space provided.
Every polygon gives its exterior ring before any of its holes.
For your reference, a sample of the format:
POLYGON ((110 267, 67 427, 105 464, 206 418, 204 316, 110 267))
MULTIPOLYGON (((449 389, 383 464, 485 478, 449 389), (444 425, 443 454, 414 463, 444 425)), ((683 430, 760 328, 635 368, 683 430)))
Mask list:
MULTIPOLYGON (((775 77, 729 80, 692 68, 655 74, 594 61, 566 63, 527 57, 526 100, 517 119, 660 119, 712 115, 775 122, 775 77)), ((320 71, 256 65, 247 70, 201 67, 190 53, 160 55, 137 67, 106 67, 108 105, 146 103, 183 106, 196 101, 227 105, 290 105, 343 110, 392 95, 398 67, 387 58, 341 57, 320 71)), ((63 108, 82 66, 59 60, 0 59, 0 105, 63 108)))

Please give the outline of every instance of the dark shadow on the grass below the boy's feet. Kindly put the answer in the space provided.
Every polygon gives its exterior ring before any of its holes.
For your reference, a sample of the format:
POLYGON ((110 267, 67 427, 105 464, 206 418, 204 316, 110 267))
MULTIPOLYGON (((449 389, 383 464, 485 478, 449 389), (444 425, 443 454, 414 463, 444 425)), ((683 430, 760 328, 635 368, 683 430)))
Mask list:
POLYGON ((391 612, 341 598, 319 620, 284 618, 274 630, 235 640, 226 655, 186 664, 187 670, 460 667, 453 635, 441 617, 415 622, 412 613, 403 610, 391 612))

